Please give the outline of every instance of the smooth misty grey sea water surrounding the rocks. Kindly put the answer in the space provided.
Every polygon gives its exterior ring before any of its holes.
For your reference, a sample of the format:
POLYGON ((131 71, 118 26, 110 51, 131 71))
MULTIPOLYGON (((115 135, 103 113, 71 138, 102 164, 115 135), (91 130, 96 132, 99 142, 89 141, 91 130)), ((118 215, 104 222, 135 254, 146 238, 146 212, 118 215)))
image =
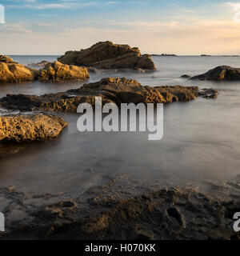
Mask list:
MULTIPOLYGON (((11 56, 24 65, 58 56, 11 56)), ((164 106, 164 136, 149 141, 147 133, 80 133, 78 114, 60 114, 69 122, 54 142, 33 143, 0 160, 0 187, 17 186, 29 193, 86 190, 106 182, 109 175, 179 185, 225 181, 240 174, 240 82, 200 82, 180 78, 202 74, 219 65, 240 66, 239 57, 153 57, 154 72, 99 71, 104 77, 135 78, 142 85, 214 87, 218 99, 198 98, 164 106), (91 171, 90 171, 91 170, 91 171)), ((30 82, 1 85, 6 94, 46 94, 78 88, 86 82, 30 82)))

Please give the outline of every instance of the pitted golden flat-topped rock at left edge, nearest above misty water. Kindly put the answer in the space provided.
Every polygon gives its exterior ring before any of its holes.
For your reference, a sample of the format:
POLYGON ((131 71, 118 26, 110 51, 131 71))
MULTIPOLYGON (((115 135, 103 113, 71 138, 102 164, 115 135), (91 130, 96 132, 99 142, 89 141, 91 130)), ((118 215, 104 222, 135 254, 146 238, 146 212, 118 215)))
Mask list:
POLYGON ((67 126, 62 118, 46 114, 0 117, 0 142, 34 142, 57 138, 67 126))

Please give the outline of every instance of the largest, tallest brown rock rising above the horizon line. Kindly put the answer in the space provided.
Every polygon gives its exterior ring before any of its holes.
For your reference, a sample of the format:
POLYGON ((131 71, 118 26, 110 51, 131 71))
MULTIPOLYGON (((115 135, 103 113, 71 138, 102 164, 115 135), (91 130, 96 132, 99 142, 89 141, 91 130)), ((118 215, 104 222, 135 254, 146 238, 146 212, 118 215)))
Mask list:
POLYGON ((67 51, 59 62, 77 66, 94 66, 102 69, 130 68, 155 70, 149 54, 141 54, 138 48, 117 45, 113 42, 98 42, 86 50, 67 51))

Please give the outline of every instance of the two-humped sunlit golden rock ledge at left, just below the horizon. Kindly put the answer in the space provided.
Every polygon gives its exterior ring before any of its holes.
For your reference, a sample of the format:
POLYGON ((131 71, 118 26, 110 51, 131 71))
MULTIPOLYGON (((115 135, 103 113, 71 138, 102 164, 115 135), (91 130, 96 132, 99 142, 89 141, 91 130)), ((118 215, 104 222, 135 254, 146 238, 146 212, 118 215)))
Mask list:
POLYGON ((64 65, 60 62, 46 63, 41 70, 14 62, 1 62, 0 83, 83 81, 90 78, 86 67, 64 65))

